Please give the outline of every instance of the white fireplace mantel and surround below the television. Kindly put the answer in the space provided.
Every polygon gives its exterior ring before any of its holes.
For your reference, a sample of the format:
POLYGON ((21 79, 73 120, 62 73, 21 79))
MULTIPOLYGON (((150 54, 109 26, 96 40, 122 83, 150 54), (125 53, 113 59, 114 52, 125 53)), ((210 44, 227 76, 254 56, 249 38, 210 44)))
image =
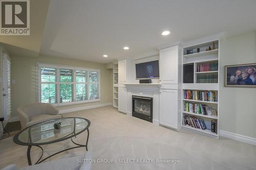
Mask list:
POLYGON ((132 116, 132 96, 153 98, 153 124, 159 125, 159 89, 161 84, 126 83, 127 90, 127 115, 132 116))

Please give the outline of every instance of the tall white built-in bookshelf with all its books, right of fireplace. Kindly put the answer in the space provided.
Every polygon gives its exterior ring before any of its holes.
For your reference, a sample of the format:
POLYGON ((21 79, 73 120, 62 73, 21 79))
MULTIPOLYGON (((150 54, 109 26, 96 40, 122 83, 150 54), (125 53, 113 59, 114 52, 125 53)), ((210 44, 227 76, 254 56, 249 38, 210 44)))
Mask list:
POLYGON ((183 47, 182 127, 219 137, 219 38, 183 47), (210 48, 209 48, 210 46, 210 48))

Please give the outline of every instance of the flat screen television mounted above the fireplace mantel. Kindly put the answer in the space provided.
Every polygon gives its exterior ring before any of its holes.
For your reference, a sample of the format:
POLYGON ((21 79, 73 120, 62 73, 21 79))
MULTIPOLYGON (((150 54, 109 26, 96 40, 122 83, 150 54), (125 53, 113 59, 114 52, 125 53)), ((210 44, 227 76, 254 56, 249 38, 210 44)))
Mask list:
POLYGON ((136 79, 159 79, 158 60, 136 64, 136 79))

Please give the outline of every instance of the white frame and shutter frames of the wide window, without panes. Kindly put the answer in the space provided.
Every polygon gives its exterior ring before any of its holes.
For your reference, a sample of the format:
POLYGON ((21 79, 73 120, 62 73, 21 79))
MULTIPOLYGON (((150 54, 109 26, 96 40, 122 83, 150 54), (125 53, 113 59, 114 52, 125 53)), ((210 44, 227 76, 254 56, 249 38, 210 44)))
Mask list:
MULTIPOLYGON (((101 88, 100 88, 100 69, 93 69, 93 68, 86 68, 86 67, 76 67, 76 66, 69 66, 69 65, 57 65, 57 64, 48 64, 48 63, 36 63, 37 65, 37 102, 41 102, 41 67, 50 67, 50 68, 56 68, 57 69, 57 103, 52 104, 54 106, 65 106, 65 105, 74 105, 74 104, 82 104, 82 103, 90 103, 90 102, 99 102, 101 99, 101 88), (59 69, 72 69, 73 70, 73 82, 69 84, 73 84, 73 93, 74 93, 74 102, 66 102, 66 103, 60 103, 60 91, 59 91, 59 85, 61 82, 59 82, 59 69), (76 70, 84 70, 87 71, 87 100, 85 101, 76 101, 76 70), (99 85, 99 99, 95 100, 90 100, 89 98, 89 87, 90 87, 90 82, 89 82, 89 71, 98 71, 98 85, 99 85)), ((49 82, 47 82, 49 83, 49 82)), ((63 82, 62 82, 63 83, 63 82)), ((64 82, 66 83, 66 82, 64 82)), ((81 84, 81 82, 78 82, 77 84, 81 84)), ((84 83, 86 84, 86 83, 84 83)))

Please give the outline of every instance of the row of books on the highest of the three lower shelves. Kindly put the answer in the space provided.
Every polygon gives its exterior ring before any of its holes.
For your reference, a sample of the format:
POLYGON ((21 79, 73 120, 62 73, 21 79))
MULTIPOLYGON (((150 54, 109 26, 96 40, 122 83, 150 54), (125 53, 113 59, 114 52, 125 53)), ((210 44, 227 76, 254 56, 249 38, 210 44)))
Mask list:
POLYGON ((218 95, 215 91, 184 90, 184 99, 217 102, 218 95))

